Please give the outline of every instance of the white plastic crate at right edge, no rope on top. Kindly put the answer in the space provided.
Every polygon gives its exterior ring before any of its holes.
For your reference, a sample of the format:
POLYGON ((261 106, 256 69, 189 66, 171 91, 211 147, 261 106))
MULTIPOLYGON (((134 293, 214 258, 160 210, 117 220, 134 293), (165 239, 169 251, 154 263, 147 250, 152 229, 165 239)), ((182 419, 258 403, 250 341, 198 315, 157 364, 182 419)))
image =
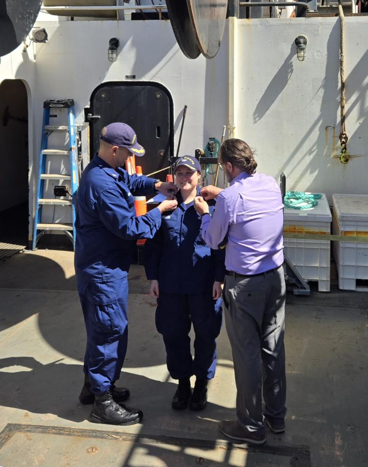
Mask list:
MULTIPOLYGON (((336 235, 368 237, 368 196, 332 195, 332 232, 336 235)), ((357 280, 368 279, 368 243, 332 242, 339 288, 368 291, 357 280)))

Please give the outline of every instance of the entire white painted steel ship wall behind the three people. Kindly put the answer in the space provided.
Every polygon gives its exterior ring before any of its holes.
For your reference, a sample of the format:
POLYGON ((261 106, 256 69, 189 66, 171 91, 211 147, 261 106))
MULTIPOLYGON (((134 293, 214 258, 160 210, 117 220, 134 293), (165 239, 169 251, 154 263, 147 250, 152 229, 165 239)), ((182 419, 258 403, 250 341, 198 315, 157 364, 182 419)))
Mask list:
MULTIPOLYGON (((193 154, 210 136, 221 138, 228 107, 226 30, 214 59, 189 60, 167 21, 47 21, 36 25, 47 29, 49 40, 35 45, 35 62, 30 51, 23 55, 18 48, 0 63, 1 79, 16 77, 28 83, 33 180, 43 101, 74 98, 87 151, 83 110, 92 91, 102 82, 124 80, 128 74, 160 82, 171 92, 176 141, 183 108, 188 105, 181 154, 193 154), (118 60, 110 63, 108 43, 114 36, 121 46, 118 60)), ((350 154, 362 157, 343 165, 332 157, 339 152, 340 131, 338 18, 238 21, 236 134, 257 149, 260 171, 277 179, 285 172, 289 190, 320 191, 330 199, 333 192, 367 193, 367 26, 366 17, 346 18, 348 148, 350 154), (296 59, 294 46, 300 34, 308 37, 304 62, 296 59)))

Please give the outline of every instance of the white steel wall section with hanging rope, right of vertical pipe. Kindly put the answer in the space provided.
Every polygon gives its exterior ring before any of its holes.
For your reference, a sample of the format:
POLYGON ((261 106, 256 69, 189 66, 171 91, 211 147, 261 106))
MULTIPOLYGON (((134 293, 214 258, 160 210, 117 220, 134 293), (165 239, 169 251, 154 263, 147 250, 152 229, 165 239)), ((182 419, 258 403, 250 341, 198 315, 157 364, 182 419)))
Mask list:
POLYGON ((257 148, 260 171, 288 190, 367 193, 368 18, 345 18, 348 164, 338 158, 338 18, 240 20, 238 137, 257 148), (308 37, 306 59, 294 39, 308 37), (333 128, 334 131, 333 131, 333 128), (333 136, 335 135, 335 137, 333 136))

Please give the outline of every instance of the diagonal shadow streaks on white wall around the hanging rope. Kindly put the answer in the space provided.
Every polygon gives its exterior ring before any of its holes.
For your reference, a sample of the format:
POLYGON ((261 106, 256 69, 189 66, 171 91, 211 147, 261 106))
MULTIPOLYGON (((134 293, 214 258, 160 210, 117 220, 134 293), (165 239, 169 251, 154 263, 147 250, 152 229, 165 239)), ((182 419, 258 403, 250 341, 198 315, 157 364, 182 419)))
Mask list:
MULTIPOLYGON (((331 150, 330 153, 326 152, 323 154, 323 150, 321 149, 326 146, 326 127, 333 124, 333 126, 335 126, 336 137, 338 137, 340 133, 339 60, 338 45, 336 45, 335 42, 336 37, 339 37, 339 27, 339 22, 337 21, 331 29, 331 33, 326 44, 327 59, 325 77, 313 96, 313 99, 318 96, 321 100, 318 116, 314 120, 313 124, 305 130, 304 136, 300 138, 298 144, 291 151, 290 157, 280 167, 280 173, 285 172, 288 180, 290 180, 289 184, 287 180, 288 190, 293 190, 296 184, 302 182, 305 178, 306 172, 308 172, 309 174, 313 174, 314 178, 311 183, 305 186, 304 190, 312 192, 318 190, 323 191, 324 187, 326 187, 326 180, 329 179, 329 169, 333 166, 341 168, 341 171, 339 172, 341 177, 339 180, 339 192, 355 193, 357 189, 356 184, 354 184, 353 173, 356 171, 356 163, 358 162, 358 159, 350 159, 348 164, 343 165, 337 157, 331 157, 331 150), (314 144, 306 150, 305 144, 315 128, 318 128, 318 138, 314 144), (295 177, 294 172, 298 171, 300 157, 302 154, 304 154, 303 157, 307 158, 309 162, 303 173, 295 177), (322 168, 319 168, 321 163, 317 162, 317 159, 321 159, 321 157, 324 158, 324 164, 322 168)), ((356 131, 349 134, 348 150, 350 151, 350 154, 364 154, 367 152, 367 148, 365 146, 366 140, 362 138, 364 134, 361 133, 361 136, 356 134, 359 129, 362 128, 361 125, 367 126, 368 122, 367 105, 365 104, 368 85, 366 84, 364 87, 362 86, 362 83, 367 76, 367 63, 368 51, 362 56, 349 75, 346 76, 346 126, 348 134, 349 116, 356 107, 359 108, 357 115, 359 123, 358 125, 356 124, 355 118, 353 122, 356 131), (354 95, 356 96, 355 99, 353 99, 354 95)), ((264 108, 266 108, 266 105, 264 105, 264 108)), ((339 153, 340 144, 338 138, 336 138, 336 142, 335 152, 339 153)), ((334 174, 336 174, 336 172, 334 172, 334 174)))

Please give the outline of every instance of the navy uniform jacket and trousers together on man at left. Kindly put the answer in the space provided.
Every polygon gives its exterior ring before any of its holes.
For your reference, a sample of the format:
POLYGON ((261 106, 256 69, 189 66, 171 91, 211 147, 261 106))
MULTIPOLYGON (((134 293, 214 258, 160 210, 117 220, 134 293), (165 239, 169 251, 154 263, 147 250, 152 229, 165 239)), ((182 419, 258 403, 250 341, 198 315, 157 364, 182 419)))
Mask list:
POLYGON ((84 372, 95 394, 120 376, 128 341, 128 271, 133 245, 161 225, 155 208, 137 217, 136 196, 152 195, 155 180, 113 169, 98 154, 83 172, 75 221, 75 274, 87 330, 84 372))

